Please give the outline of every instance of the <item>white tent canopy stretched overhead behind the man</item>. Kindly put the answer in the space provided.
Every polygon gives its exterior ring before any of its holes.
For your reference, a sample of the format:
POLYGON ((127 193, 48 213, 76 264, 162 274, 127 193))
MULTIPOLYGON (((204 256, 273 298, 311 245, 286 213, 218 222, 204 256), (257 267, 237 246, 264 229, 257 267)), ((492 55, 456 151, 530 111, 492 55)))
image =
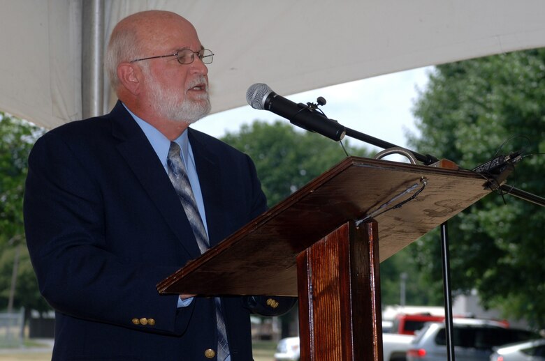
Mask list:
MULTIPOLYGON (((543 0, 98 3, 101 48, 117 21, 139 10, 172 10, 190 20, 216 54, 209 66, 213 112, 245 105, 256 82, 289 95, 545 46, 543 0)), ((82 84, 82 70, 92 66, 82 57, 89 48, 82 40, 85 11, 82 0, 0 0, 0 110, 46 128, 82 118, 82 89, 93 86, 82 84)))

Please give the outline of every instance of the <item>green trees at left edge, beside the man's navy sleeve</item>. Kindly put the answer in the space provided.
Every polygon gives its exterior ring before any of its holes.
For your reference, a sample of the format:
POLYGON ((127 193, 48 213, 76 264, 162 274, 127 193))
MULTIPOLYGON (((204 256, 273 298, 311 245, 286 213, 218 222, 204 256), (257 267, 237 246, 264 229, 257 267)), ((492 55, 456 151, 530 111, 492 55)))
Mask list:
POLYGON ((8 306, 17 263, 13 307, 45 310, 24 243, 22 198, 27 159, 43 129, 0 112, 0 302, 8 306))

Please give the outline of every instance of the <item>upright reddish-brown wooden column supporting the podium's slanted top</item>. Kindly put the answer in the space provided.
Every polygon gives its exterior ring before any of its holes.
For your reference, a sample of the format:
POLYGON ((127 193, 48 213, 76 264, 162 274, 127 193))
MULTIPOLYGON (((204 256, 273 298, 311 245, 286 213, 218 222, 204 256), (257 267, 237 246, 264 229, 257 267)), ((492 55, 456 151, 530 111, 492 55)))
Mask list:
POLYGON ((301 360, 382 360, 377 223, 342 224, 297 256, 301 360))

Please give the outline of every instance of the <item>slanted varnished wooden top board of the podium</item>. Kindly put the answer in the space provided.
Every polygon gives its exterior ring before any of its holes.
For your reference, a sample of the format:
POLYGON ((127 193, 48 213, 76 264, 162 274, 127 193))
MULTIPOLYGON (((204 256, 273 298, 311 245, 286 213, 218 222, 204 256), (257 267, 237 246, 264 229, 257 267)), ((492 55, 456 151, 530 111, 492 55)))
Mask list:
POLYGON ((489 193, 484 179, 471 171, 347 158, 187 263, 157 289, 201 295, 297 295, 300 252, 421 178, 428 185, 416 199, 375 217, 381 261, 489 193))

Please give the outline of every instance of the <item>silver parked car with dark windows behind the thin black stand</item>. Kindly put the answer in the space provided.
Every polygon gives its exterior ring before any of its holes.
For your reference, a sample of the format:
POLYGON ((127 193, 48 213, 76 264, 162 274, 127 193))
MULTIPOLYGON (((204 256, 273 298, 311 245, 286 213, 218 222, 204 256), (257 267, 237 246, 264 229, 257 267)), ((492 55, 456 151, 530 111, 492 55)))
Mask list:
MULTIPOLYGON (((474 318, 453 319, 454 355, 457 361, 489 361, 494 346, 536 339, 529 330, 508 328, 505 323, 474 318)), ((416 333, 407 361, 446 360, 445 325, 428 323, 416 333)))

